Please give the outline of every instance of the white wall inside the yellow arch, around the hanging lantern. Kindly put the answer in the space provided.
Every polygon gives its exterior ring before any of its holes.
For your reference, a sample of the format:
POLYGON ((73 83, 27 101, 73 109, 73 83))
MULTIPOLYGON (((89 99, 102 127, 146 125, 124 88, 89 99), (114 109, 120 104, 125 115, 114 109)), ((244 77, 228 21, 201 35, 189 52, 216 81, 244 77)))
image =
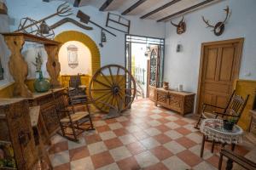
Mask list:
POLYGON ((91 73, 90 49, 84 46, 82 42, 70 41, 64 43, 59 51, 59 60, 61 63, 61 75, 77 75, 91 73), (68 66, 67 47, 69 45, 75 45, 78 48, 79 65, 75 68, 71 68, 68 66))

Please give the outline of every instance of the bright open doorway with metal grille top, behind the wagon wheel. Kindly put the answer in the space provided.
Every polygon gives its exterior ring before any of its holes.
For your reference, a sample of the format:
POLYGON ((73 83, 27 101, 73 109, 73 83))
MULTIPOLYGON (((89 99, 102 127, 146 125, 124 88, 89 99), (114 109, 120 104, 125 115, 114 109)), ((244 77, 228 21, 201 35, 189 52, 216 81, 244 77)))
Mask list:
POLYGON ((136 99, 154 100, 154 89, 162 86, 164 47, 162 38, 125 36, 125 65, 136 79, 136 99))

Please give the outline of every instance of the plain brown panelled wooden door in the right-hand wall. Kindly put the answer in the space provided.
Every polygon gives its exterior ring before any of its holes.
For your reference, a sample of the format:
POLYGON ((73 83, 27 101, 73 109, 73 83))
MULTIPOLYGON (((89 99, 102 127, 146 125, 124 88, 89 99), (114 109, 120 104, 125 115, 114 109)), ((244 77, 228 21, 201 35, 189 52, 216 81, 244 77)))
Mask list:
POLYGON ((197 113, 203 103, 225 107, 239 76, 243 38, 203 43, 197 113))

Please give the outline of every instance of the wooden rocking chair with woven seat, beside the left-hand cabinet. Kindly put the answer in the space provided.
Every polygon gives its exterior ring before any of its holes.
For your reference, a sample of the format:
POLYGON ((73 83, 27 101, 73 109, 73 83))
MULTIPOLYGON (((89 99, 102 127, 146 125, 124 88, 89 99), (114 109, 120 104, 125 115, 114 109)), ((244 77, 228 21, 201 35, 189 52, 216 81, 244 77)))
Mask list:
POLYGON ((63 137, 78 142, 78 136, 83 133, 84 130, 93 130, 93 123, 90 117, 90 101, 86 96, 86 102, 83 104, 86 111, 76 111, 75 107, 81 105, 74 105, 73 99, 70 98, 67 92, 61 94, 61 97, 55 100, 55 111, 58 116, 58 120, 61 127, 61 132, 58 131, 63 137), (87 122, 87 127, 84 127, 87 122), (88 123, 89 122, 89 123, 88 123))

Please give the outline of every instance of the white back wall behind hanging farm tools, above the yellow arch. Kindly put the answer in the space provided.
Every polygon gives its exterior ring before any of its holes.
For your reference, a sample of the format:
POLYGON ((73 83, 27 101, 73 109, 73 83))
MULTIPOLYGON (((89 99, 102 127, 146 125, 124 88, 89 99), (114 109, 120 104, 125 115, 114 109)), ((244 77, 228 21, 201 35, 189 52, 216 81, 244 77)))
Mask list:
MULTIPOLYGON (((61 3, 63 2, 52 1, 50 3, 44 3, 42 0, 8 0, 6 4, 9 9, 9 18, 11 23, 10 30, 15 31, 17 29, 21 18, 31 17, 34 20, 40 20, 49 14, 55 13, 57 6, 60 5, 61 3)), ((73 5, 71 6, 73 7, 73 5)), ((85 14, 90 15, 90 20, 96 22, 101 26, 105 26, 108 14, 107 12, 102 13, 97 8, 90 6, 73 8, 74 15, 70 17, 74 20, 79 20, 78 18, 76 18, 76 14, 79 9, 82 10, 85 14)), ((9 31, 9 26, 6 26, 6 23, 9 23, 8 17, 3 16, 2 18, 0 18, 0 31, 9 31), (4 20, 2 20, 2 18, 4 18, 4 20), (2 27, 4 27, 4 29, 2 29, 2 27)), ((49 26, 51 26, 56 21, 61 19, 61 17, 55 16, 53 19, 46 20, 46 22, 49 26)), ((131 34, 148 37, 165 37, 165 24, 163 23, 156 23, 154 20, 140 20, 137 17, 127 17, 127 19, 131 20, 131 34)), ((61 33, 61 31, 81 31, 84 34, 88 35, 90 38, 92 38, 98 44, 101 39, 101 30, 91 24, 89 24, 89 26, 93 27, 92 31, 84 31, 83 29, 79 28, 78 26, 74 26, 73 24, 65 24, 55 29, 55 35, 61 33)), ((108 42, 104 43, 103 48, 99 47, 101 54, 101 65, 108 65, 113 63, 118 65, 125 65, 125 34, 119 31, 114 31, 110 28, 107 29, 116 34, 117 37, 113 37, 106 33, 108 42)), ((3 53, 3 65, 7 65, 9 60, 8 49, 3 44, 3 39, 1 36, 0 46, 1 48, 4 48, 3 51, 5 51, 3 53)), ((33 52, 23 51, 22 53, 30 54, 32 56, 33 54, 36 54, 38 52, 38 49, 35 48, 28 49, 32 50, 33 52)), ((44 49, 40 48, 39 50, 42 50, 42 53, 44 54, 44 49)), ((27 56, 24 57, 26 59, 27 56)), ((45 56, 43 56, 43 58, 44 57, 45 56)), ((0 87, 4 84, 6 85, 9 82, 12 82, 11 78, 9 78, 8 76, 8 68, 5 68, 5 71, 7 72, 5 75, 5 80, 0 81, 0 87)), ((32 71, 30 72, 32 73, 32 71)), ((29 78, 34 77, 33 74, 30 75, 31 77, 29 78)))

